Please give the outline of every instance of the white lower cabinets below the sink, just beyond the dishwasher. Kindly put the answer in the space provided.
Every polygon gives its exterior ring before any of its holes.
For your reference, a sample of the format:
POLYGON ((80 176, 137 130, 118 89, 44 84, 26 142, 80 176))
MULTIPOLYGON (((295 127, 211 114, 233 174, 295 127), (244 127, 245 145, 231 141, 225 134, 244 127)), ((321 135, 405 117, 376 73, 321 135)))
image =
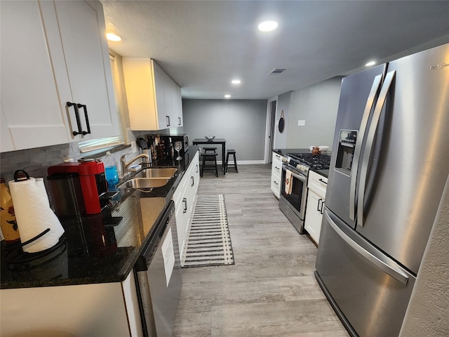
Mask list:
POLYGON ((173 194, 175 201, 175 216, 177 228, 177 241, 180 246, 180 256, 184 251, 187 232, 189 231, 190 218, 199 185, 199 152, 196 152, 189 168, 184 173, 180 185, 173 194))

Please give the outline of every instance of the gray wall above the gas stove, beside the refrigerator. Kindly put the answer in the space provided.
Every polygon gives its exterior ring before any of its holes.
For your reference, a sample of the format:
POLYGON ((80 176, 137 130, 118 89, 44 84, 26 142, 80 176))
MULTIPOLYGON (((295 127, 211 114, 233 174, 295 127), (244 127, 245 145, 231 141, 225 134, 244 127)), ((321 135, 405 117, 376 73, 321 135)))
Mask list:
POLYGON ((287 148, 311 145, 332 148, 341 81, 342 77, 333 77, 291 93, 287 148), (299 119, 305 120, 305 126, 297 125, 299 119))

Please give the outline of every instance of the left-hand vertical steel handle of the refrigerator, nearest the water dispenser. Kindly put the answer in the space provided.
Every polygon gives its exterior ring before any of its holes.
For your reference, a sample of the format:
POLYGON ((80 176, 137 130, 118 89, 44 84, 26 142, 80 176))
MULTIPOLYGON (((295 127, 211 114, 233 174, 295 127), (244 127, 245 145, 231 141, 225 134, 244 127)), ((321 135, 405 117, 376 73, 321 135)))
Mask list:
POLYGON ((360 160, 360 153, 363 143, 363 138, 365 137, 366 126, 368 126, 368 119, 370 117, 371 110, 375 104, 375 98, 379 92, 380 83, 382 81, 382 74, 377 75, 373 80, 373 86, 371 86, 370 94, 366 100, 365 110, 363 111, 363 117, 361 120, 360 128, 358 130, 356 148, 354 149, 354 157, 352 160, 351 168, 351 185, 349 190, 349 218, 353 221, 356 220, 356 182, 357 182, 357 171, 358 171, 358 161, 360 160))

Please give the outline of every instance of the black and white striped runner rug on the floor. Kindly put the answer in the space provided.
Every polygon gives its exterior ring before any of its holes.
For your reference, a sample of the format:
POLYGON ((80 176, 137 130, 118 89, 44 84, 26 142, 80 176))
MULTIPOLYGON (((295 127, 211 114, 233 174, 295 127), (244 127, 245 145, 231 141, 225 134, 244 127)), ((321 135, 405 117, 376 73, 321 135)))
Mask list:
POLYGON ((196 197, 181 265, 234 265, 223 194, 196 197))

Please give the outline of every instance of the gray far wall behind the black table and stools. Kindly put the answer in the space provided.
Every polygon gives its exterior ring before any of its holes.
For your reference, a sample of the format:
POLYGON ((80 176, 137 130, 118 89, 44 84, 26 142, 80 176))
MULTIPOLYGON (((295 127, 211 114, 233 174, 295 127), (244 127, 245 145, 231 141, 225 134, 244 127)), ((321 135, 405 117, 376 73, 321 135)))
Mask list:
MULTIPOLYGON (((267 100, 182 100, 182 115, 191 141, 225 138, 238 162, 263 163, 267 100)), ((221 159, 221 147, 217 150, 221 159)))

